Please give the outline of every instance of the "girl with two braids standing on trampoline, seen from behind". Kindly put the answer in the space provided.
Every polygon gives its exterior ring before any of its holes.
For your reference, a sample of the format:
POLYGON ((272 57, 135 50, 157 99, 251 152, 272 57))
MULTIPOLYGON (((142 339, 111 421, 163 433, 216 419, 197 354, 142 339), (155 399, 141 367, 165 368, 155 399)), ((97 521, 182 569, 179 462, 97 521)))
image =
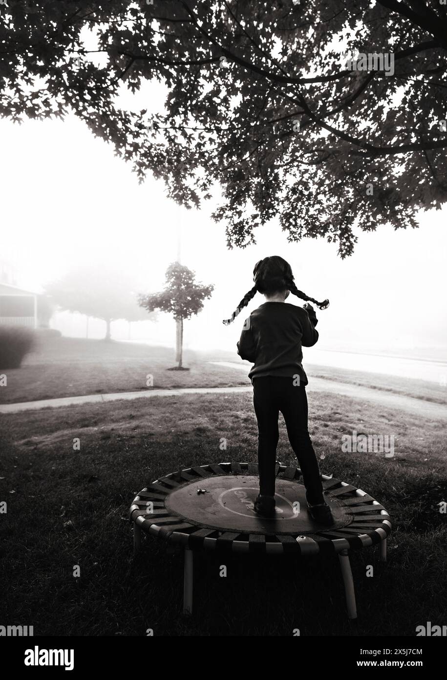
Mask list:
POLYGON ((253 279, 253 288, 240 301, 232 317, 223 323, 233 322, 257 292, 264 293, 266 302, 251 312, 237 343, 239 356, 254 364, 249 378, 253 384, 253 405, 259 430, 257 460, 260 475, 260 494, 254 509, 260 515, 274 516, 276 446, 281 411, 289 442, 300 464, 308 511, 315 521, 332 524, 308 432, 308 379, 302 367, 302 346, 312 347, 318 340, 317 317, 312 305, 297 307, 285 303, 289 292, 312 301, 320 309, 325 309, 329 301, 319 303, 298 290, 289 263, 276 255, 257 262, 253 279))

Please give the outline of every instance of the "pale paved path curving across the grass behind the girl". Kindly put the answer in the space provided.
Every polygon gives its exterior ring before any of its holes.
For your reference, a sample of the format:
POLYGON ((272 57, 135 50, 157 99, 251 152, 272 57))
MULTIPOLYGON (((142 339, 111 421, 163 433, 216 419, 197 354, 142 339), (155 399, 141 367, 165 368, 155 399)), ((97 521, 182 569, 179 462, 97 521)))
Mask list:
MULTIPOLYGON (((210 362, 219 366, 233 368, 236 371, 243 371, 247 375, 250 365, 229 362, 213 361, 210 362)), ((16 404, 0 405, 0 413, 18 413, 20 411, 39 411, 41 409, 57 408, 61 406, 73 406, 78 404, 101 403, 109 401, 120 401, 128 399, 149 398, 152 396, 181 396, 182 394, 240 394, 251 392, 251 384, 247 387, 211 387, 211 388, 179 388, 175 390, 147 390, 147 392, 115 392, 115 394, 84 394, 83 396, 65 396, 58 399, 41 399, 39 401, 24 401, 16 404)), ((343 394, 355 399, 371 401, 391 409, 406 411, 424 415, 433 420, 447 420, 447 406, 436 404, 423 399, 416 399, 411 396, 400 396, 392 392, 372 390, 367 387, 359 387, 348 383, 325 380, 324 378, 312 378, 307 391, 329 392, 332 394, 343 394)))

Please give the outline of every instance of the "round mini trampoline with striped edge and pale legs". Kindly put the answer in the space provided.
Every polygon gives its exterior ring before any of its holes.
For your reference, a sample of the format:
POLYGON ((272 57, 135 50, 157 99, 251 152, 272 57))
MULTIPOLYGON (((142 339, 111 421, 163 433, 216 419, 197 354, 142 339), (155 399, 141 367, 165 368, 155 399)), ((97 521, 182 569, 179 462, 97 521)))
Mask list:
POLYGON ((134 551, 141 532, 185 550, 183 612, 192 613, 194 551, 328 556, 337 554, 348 617, 357 609, 349 551, 379 544, 387 559, 389 514, 377 500, 340 479, 321 475, 334 524, 317 524, 308 514, 306 490, 296 467, 276 464, 276 513, 260 517, 253 510, 259 492, 255 463, 219 463, 187 468, 152 482, 130 507, 134 551))

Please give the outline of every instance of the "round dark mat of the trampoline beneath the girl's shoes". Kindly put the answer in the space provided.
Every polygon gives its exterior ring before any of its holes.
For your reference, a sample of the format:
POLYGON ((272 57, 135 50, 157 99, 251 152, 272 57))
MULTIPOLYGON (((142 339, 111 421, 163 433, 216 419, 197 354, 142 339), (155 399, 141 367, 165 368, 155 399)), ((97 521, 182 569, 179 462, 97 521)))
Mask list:
POLYGON ((325 499, 334 524, 328 527, 312 520, 306 489, 296 481, 276 479, 275 490, 272 518, 262 517, 253 509, 259 493, 259 477, 254 475, 223 475, 186 483, 171 491, 164 504, 168 511, 197 526, 240 534, 304 534, 339 529, 353 521, 348 509, 330 496, 325 499))

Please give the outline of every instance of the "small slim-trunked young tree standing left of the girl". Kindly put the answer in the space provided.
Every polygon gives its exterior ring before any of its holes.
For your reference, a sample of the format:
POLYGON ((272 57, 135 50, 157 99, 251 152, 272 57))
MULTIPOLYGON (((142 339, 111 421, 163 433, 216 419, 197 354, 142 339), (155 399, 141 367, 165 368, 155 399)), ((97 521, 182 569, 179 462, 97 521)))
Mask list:
MULTIPOLYGON (((180 322, 179 365, 175 370, 187 370, 182 366, 183 360, 183 320, 190 319, 203 308, 203 301, 211 297, 214 286, 202 286, 194 281, 194 271, 179 262, 173 262, 166 269, 166 288, 162 292, 141 294, 139 304, 147 311, 167 311, 173 314, 175 321, 180 322)), ((173 369, 174 370, 174 369, 173 369)))

